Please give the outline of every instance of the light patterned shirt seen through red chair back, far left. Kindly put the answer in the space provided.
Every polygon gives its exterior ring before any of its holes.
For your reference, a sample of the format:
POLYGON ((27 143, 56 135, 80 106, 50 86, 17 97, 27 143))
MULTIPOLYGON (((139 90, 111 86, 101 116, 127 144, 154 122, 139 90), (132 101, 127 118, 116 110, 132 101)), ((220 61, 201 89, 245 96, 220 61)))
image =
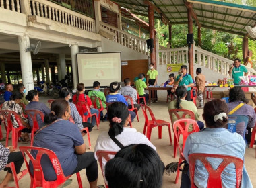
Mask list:
MULTIPOLYGON (((20 115, 20 117, 22 118, 22 120, 24 120, 24 122, 28 123, 28 119, 24 117, 23 115, 23 111, 22 111, 22 107, 20 107, 19 104, 16 104, 15 101, 5 101, 3 103, 3 107, 2 110, 11 110, 11 111, 15 111, 16 113, 18 113, 18 115, 20 115)), ((18 122, 15 120, 15 116, 11 115, 11 122, 13 124, 14 128, 18 128, 19 124, 18 122)), ((5 123, 7 124, 7 121, 5 120, 5 123)))

